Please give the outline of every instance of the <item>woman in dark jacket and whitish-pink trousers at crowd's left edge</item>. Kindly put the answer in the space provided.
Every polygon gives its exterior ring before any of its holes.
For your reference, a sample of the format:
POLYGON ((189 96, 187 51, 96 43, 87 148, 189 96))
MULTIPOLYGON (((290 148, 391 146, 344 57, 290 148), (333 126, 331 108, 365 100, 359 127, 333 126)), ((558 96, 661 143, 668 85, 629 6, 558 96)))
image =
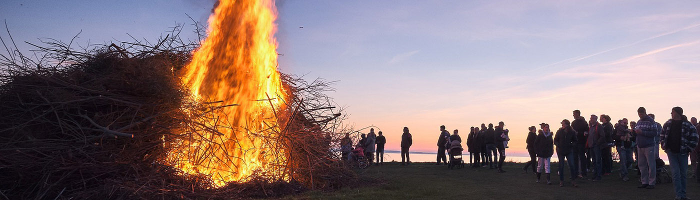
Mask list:
POLYGON ((542 171, 547 174, 547 185, 552 185, 552 181, 549 180, 549 173, 551 173, 552 168, 550 166, 550 159, 554 154, 554 143, 552 139, 552 131, 549 131, 549 124, 542 123, 542 130, 539 131, 540 134, 535 138, 535 154, 537 154, 537 183, 540 183, 540 177, 542 176, 542 171))

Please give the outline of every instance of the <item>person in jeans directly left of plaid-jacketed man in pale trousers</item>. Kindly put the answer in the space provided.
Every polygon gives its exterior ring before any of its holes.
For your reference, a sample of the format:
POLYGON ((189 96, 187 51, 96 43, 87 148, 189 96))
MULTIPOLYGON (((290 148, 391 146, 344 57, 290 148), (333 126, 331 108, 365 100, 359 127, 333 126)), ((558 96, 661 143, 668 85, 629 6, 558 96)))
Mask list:
POLYGON ((619 176, 622 180, 628 181, 629 167, 632 166, 632 133, 627 127, 627 118, 623 118, 617 129, 615 129, 615 148, 619 155, 619 176))

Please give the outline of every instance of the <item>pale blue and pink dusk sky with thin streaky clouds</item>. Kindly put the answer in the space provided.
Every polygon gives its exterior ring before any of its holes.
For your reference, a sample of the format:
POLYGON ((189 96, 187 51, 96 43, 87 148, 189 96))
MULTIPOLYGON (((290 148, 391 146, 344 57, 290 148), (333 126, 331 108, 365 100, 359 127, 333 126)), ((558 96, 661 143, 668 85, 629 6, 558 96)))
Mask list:
MULTIPOLYGON (((48 37, 78 45, 155 41, 174 24, 206 24, 213 0, 19 1, 0 6, 18 48, 48 37), (186 15, 187 14, 187 15, 186 15)), ((700 116, 700 1, 277 1, 279 69, 339 80, 331 97, 356 128, 398 150, 434 152, 440 125, 503 121, 510 152, 527 127, 572 110, 661 123, 700 116), (300 28, 303 27, 303 28, 300 28)), ((196 41, 192 26, 183 37, 196 41)), ((7 33, 0 34, 7 38, 7 33)))

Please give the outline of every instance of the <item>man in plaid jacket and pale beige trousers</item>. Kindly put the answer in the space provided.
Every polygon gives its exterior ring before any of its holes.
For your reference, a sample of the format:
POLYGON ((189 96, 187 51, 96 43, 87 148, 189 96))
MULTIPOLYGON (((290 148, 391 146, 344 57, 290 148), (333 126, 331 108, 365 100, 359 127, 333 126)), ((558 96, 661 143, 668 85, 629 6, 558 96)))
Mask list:
POLYGON ((639 107, 637 109, 639 120, 634 131, 637 133, 637 154, 639 159, 637 165, 642 176, 642 185, 637 188, 654 189, 656 185, 656 144, 654 138, 657 136, 657 123, 652 117, 647 115, 647 109, 639 107))

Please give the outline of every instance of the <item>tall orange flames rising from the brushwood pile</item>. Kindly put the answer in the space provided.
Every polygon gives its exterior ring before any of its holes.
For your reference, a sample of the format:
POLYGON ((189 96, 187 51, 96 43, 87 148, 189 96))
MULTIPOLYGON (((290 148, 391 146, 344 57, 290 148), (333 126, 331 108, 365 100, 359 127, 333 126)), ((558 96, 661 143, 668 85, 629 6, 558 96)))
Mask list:
POLYGON ((183 81, 202 101, 239 106, 221 108, 213 114, 215 120, 200 122, 221 134, 182 133, 194 139, 175 141, 178 148, 169 151, 167 159, 178 169, 207 175, 215 187, 251 175, 284 178, 286 161, 277 156, 284 155, 283 149, 265 139, 279 132, 275 112, 286 98, 276 71, 275 19, 272 0, 219 1, 209 17, 209 36, 186 67, 183 81))

